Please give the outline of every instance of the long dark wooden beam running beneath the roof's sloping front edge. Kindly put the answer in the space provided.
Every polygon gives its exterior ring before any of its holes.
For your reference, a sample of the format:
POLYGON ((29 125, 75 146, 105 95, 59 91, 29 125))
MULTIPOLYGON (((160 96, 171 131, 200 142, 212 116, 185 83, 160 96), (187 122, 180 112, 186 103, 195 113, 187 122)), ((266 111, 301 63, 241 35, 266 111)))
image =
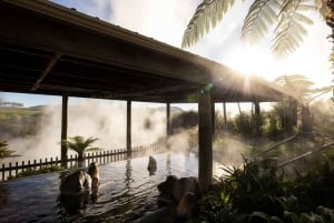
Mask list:
MULTIPOLYGON (((199 64, 195 55, 193 55, 194 60, 181 59, 154 51, 145 45, 136 45, 127 42, 127 39, 110 37, 99 30, 92 31, 87 27, 78 27, 70 20, 61 21, 61 18, 51 14, 46 17, 37 9, 27 10, 26 13, 24 10, 8 4, 9 2, 2 2, 0 7, 0 41, 2 42, 48 52, 62 52, 66 55, 155 75, 197 83, 209 81, 209 75, 203 74, 208 72, 207 68, 199 64)), ((66 13, 73 19, 77 17, 69 11, 66 13)), ((184 54, 185 58, 188 55, 188 53, 184 54)))

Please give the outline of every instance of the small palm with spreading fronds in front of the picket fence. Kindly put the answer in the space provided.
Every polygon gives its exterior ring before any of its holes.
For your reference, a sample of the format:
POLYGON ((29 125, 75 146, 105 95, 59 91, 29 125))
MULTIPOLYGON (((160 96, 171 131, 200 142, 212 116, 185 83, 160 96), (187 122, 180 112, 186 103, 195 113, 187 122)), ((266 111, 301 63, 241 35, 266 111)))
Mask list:
POLYGON ((88 138, 85 139, 84 136, 73 136, 69 138, 68 140, 62 141, 61 143, 69 148, 70 150, 73 150, 78 153, 78 165, 79 168, 84 164, 84 153, 89 151, 99 151, 100 148, 94 148, 91 144, 96 142, 97 138, 88 138))

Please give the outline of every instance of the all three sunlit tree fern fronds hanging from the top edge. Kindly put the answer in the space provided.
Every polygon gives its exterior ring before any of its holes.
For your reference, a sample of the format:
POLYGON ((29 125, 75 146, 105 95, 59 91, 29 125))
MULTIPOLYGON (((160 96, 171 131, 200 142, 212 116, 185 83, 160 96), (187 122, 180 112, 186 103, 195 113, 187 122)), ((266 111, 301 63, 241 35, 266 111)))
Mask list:
MULTIPOLYGON (((234 4, 235 0, 203 0, 185 30, 181 47, 195 44, 234 4)), ((322 12, 323 8, 322 0, 254 0, 244 18, 242 40, 257 43, 275 26, 272 50, 283 57, 293 52, 307 34, 305 26, 313 21, 305 12, 322 12)))

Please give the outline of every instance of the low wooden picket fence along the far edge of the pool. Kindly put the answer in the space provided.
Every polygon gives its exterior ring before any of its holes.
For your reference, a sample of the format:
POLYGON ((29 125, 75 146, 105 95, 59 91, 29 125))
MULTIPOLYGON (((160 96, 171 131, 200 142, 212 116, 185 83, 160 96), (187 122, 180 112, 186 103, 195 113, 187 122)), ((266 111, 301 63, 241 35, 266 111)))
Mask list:
MULTIPOLYGON (((132 148, 130 153, 126 149, 119 150, 109 150, 109 151, 100 151, 92 153, 85 153, 85 166, 88 166, 91 162, 97 162, 100 165, 108 164, 111 162, 122 161, 130 158, 139 158, 146 156, 148 154, 157 154, 166 151, 165 143, 163 141, 146 145, 146 146, 136 146, 132 148)), ((78 168, 78 155, 70 155, 67 159, 67 168, 75 169, 78 168)), ((47 173, 51 171, 61 170, 61 160, 56 156, 56 159, 39 159, 33 160, 32 162, 29 160, 28 162, 22 161, 21 163, 16 162, 12 164, 11 162, 7 165, 3 163, 0 169, 1 172, 1 181, 10 180, 13 178, 19 178, 26 173, 28 175, 30 172, 31 175, 47 173), (28 174, 27 174, 28 173, 28 174)))

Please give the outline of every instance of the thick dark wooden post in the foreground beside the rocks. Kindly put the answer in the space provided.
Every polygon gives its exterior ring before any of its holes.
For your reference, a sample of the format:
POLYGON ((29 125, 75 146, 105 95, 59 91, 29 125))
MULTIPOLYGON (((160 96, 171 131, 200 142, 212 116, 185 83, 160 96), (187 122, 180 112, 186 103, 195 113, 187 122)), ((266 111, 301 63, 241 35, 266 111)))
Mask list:
POLYGON ((202 90, 198 97, 198 183, 204 193, 213 180, 212 94, 202 90))

